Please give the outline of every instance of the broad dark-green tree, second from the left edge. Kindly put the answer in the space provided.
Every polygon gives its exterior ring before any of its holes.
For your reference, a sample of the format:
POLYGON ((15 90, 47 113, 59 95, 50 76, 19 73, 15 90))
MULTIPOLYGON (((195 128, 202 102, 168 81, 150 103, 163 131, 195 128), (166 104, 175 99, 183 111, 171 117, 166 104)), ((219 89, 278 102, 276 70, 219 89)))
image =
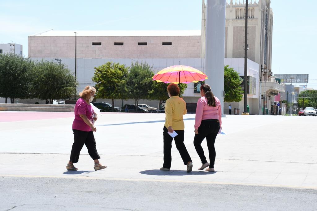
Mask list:
POLYGON ((36 64, 31 92, 40 100, 67 99, 76 94, 75 77, 65 65, 52 61, 40 61, 36 64))

